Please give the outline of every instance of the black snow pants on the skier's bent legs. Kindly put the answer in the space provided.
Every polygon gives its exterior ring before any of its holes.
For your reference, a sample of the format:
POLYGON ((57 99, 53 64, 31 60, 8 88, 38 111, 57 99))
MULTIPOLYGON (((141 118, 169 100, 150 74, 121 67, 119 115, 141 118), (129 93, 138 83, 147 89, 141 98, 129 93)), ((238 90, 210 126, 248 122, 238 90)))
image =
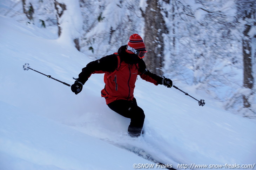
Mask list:
POLYGON ((121 114, 126 118, 130 118, 131 122, 128 127, 128 134, 132 137, 138 137, 141 134, 144 124, 145 114, 144 111, 137 105, 136 99, 132 101, 116 100, 108 104, 108 107, 121 114))

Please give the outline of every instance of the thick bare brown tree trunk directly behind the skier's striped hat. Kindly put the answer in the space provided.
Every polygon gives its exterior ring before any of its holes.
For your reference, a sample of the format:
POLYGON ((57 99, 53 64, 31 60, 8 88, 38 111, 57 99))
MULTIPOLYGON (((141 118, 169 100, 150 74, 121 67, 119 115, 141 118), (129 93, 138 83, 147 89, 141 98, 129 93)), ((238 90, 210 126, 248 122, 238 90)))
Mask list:
POLYGON ((145 57, 147 68, 158 75, 163 75, 164 39, 167 28, 161 14, 161 6, 158 0, 147 0, 145 18, 144 43, 148 51, 145 57))

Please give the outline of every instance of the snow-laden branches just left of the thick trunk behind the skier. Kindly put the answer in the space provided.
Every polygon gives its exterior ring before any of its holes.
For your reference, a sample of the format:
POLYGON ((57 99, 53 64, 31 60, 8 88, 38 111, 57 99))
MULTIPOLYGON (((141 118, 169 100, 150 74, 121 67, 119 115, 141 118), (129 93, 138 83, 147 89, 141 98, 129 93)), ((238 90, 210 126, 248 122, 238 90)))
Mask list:
POLYGON ((114 53, 127 44, 132 34, 141 34, 143 19, 139 0, 81 0, 83 33, 81 51, 92 52, 92 58, 114 53))

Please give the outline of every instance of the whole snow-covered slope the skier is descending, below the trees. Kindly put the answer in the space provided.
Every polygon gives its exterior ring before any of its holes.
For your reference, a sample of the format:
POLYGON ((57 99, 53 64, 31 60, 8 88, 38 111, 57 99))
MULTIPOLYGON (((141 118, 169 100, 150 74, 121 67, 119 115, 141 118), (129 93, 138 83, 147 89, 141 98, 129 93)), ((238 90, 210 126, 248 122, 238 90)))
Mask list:
POLYGON ((174 168, 256 163, 255 120, 224 111, 203 92, 175 81, 206 105, 138 77, 134 95, 146 114, 146 134, 130 139, 129 119, 110 110, 100 97, 102 74, 92 75, 75 95, 70 87, 22 68, 29 63, 73 84, 72 77, 92 61, 86 54, 65 37, 50 36, 34 25, 4 16, 0 23, 0 169, 130 170, 135 163, 151 163, 116 147, 133 145, 174 168))

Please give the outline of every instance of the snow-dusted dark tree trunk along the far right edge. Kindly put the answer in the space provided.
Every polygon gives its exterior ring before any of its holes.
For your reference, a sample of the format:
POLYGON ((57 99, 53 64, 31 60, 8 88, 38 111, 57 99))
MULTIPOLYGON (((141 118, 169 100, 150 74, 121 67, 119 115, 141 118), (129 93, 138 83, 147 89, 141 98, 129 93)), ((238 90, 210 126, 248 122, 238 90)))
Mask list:
POLYGON ((237 0, 237 18, 241 27, 243 52, 243 114, 251 117, 256 114, 255 107, 255 42, 256 38, 256 2, 237 0))

